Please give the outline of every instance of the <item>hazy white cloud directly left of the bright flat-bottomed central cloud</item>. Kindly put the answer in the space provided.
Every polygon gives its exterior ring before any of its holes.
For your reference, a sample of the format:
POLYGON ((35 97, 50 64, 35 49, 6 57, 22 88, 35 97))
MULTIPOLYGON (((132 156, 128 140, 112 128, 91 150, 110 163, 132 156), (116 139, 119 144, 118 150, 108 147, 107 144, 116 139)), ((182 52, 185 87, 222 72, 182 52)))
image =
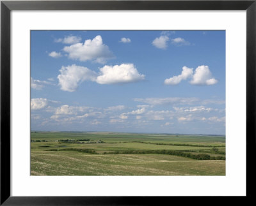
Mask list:
POLYGON ((58 75, 59 85, 61 90, 73 92, 79 83, 85 80, 95 81, 97 73, 89 70, 83 66, 77 66, 72 64, 71 66, 62 66, 60 70, 60 75, 58 75))

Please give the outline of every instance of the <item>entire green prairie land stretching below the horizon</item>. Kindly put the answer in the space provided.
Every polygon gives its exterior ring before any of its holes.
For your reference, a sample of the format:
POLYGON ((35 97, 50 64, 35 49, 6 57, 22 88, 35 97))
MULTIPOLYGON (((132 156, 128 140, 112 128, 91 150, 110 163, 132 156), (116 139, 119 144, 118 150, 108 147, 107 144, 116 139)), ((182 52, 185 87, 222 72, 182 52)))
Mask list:
POLYGON ((225 136, 31 132, 31 175, 225 175, 225 136))

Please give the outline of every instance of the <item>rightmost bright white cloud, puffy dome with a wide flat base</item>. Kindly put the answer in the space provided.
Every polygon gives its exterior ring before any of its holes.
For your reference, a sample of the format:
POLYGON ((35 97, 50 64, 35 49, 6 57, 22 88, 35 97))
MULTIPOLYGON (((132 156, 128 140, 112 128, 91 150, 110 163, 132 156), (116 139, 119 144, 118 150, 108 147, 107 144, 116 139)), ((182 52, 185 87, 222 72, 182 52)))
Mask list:
POLYGON ((190 84, 194 85, 213 85, 216 84, 218 80, 212 78, 212 73, 208 66, 202 65, 196 68, 190 84))

